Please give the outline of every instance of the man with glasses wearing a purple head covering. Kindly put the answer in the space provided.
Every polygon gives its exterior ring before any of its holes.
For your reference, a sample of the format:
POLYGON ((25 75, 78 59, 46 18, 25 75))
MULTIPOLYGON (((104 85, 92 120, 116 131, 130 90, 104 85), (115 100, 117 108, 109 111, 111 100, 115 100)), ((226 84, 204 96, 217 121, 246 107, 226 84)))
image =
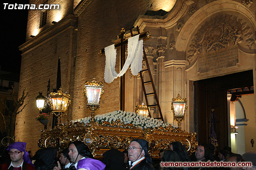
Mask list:
POLYGON ((32 164, 28 151, 26 151, 27 143, 15 142, 11 143, 6 150, 9 150, 11 162, 2 164, 0 170, 36 170, 32 164))

